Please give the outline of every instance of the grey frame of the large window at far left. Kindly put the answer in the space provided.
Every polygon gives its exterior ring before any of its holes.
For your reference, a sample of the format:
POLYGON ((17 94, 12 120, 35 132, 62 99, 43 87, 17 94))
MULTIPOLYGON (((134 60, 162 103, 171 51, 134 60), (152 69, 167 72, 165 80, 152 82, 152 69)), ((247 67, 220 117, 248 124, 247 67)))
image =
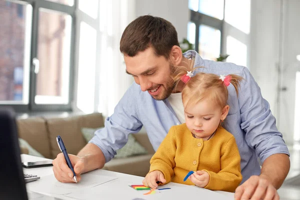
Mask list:
MULTIPOLYGON (((73 88, 74 88, 74 71, 75 71, 75 12, 78 0, 74 0, 72 6, 52 2, 47 0, 6 0, 14 3, 27 3, 32 6, 31 18, 31 41, 30 41, 30 57, 29 57, 29 94, 28 104, 17 104, 11 100, 11 103, 0 103, 0 106, 10 106, 16 112, 35 112, 35 111, 72 111, 73 88), (34 65, 32 60, 37 57, 37 36, 38 36, 38 15, 39 8, 58 11, 71 16, 71 32, 70 32, 70 60, 69 60, 69 88, 67 104, 36 104, 34 102, 36 94, 36 74, 34 73, 34 65)), ((1 102, 1 101, 0 101, 1 102)))

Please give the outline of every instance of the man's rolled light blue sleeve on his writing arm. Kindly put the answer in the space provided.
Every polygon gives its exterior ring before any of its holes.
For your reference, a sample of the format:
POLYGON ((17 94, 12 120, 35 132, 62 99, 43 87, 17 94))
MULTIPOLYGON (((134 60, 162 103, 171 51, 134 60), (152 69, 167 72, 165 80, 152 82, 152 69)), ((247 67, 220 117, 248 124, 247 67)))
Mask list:
POLYGON ((101 149, 105 156, 105 162, 112 159, 116 150, 126 144, 128 134, 138 132, 142 127, 135 100, 138 92, 136 92, 134 84, 124 93, 115 106, 113 114, 105 119, 104 128, 98 129, 89 141, 101 149))

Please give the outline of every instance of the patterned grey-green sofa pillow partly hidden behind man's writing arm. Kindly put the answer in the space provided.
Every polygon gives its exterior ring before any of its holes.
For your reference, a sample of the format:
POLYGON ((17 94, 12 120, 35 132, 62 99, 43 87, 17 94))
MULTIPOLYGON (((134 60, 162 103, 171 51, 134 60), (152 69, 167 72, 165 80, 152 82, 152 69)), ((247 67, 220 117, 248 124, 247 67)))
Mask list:
MULTIPOLYGON (((81 128, 81 132, 83 134, 83 137, 85 138, 86 142, 88 142, 93 136, 94 132, 99 128, 81 128)), ((115 158, 121 158, 121 157, 128 157, 131 155, 141 155, 141 154, 147 154, 148 151, 140 145, 134 136, 132 134, 128 135, 128 141, 127 143, 120 149, 116 150, 115 158)))

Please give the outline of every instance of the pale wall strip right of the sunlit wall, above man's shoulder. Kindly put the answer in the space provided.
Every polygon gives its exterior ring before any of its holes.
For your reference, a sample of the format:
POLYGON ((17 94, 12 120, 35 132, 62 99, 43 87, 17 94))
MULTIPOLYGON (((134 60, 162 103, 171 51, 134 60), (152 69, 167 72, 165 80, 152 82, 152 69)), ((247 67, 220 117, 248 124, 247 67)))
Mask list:
POLYGON ((280 0, 252 0, 250 68, 263 97, 268 100, 275 115, 279 65, 279 15, 280 0))

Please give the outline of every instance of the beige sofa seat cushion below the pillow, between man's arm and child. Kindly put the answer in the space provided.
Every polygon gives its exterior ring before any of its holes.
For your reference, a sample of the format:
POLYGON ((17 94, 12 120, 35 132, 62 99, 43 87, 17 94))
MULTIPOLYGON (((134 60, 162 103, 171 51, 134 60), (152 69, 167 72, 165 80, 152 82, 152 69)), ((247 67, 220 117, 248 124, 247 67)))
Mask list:
POLYGON ((153 154, 146 154, 125 158, 113 158, 105 163, 103 169, 144 177, 149 172, 150 159, 152 156, 153 154))

